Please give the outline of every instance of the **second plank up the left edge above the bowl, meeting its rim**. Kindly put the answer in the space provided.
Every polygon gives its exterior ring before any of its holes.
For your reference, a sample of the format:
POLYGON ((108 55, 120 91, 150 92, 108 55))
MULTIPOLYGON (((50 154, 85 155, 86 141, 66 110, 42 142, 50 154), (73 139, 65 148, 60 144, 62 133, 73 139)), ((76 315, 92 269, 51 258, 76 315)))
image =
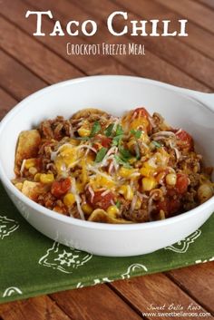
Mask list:
POLYGON ((22 100, 47 85, 2 50, 0 50, 0 61, 0 86, 17 100, 22 100))

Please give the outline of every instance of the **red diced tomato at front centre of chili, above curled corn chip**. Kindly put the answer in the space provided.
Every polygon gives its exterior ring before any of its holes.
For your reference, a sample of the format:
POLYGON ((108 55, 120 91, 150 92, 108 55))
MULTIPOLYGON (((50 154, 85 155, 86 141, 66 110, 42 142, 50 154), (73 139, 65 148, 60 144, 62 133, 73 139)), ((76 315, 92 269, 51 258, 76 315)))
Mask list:
POLYGON ((104 196, 102 196, 102 193, 103 190, 95 191, 93 197, 90 192, 86 193, 86 195, 88 196, 87 198, 92 205, 92 208, 102 208, 103 210, 106 210, 107 208, 112 206, 112 200, 114 199, 112 192, 109 192, 104 196))

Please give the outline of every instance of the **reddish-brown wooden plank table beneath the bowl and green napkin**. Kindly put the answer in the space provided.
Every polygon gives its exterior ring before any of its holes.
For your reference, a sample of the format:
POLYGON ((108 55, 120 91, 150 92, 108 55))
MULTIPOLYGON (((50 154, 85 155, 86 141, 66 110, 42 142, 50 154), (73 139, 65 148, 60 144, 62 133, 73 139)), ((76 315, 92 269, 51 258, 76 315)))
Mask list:
MULTIPOLYGON (((130 74, 169 82, 202 92, 213 92, 213 0, 1 0, 0 1, 0 115, 16 102, 53 82, 92 74, 130 74), (44 19, 51 32, 53 21, 94 19, 99 32, 92 37, 34 37, 34 17, 26 11, 52 10, 44 19), (112 37, 105 26, 113 11, 129 13, 131 20, 188 18, 188 37, 112 37), (145 44, 145 56, 69 56, 66 44, 145 44)), ((120 22, 118 23, 120 24, 120 22)), ((120 27, 120 25, 118 25, 120 27)), ((150 305, 199 307, 214 311, 213 263, 167 273, 141 276, 112 284, 38 296, 0 305, 0 319, 169 319, 142 315, 150 305)), ((191 317, 192 319, 198 317, 191 317)), ((203 316, 210 319, 211 316, 203 316)), ((176 319, 183 319, 178 316, 176 319)))

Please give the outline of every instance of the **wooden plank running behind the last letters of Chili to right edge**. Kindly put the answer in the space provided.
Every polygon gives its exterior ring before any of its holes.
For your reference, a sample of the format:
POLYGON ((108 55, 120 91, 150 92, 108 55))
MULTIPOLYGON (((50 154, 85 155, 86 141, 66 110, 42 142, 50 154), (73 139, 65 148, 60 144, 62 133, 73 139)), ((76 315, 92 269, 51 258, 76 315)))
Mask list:
MULTIPOLYGON (((126 6, 135 15, 141 17, 141 19, 169 19, 170 20, 170 32, 179 30, 179 19, 185 19, 184 16, 180 16, 177 13, 169 12, 167 6, 164 6, 164 2, 157 3, 155 1, 150 2, 148 5, 147 0, 135 0, 133 3, 127 1, 116 0, 116 2, 122 6, 126 6)), ((177 40, 191 46, 192 48, 198 50, 203 55, 209 56, 209 58, 214 59, 214 54, 212 50, 214 42, 214 34, 209 34, 208 31, 200 28, 197 24, 188 22, 187 31, 188 37, 178 37, 177 40), (202 40, 202 41, 201 41, 202 40)), ((156 40, 154 40, 156 41, 156 40)))

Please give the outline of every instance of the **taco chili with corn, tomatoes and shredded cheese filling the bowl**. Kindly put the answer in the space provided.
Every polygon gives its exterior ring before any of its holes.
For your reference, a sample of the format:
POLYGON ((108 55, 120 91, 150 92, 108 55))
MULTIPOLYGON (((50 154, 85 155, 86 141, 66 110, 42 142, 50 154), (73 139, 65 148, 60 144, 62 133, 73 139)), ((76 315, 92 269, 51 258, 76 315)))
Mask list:
MULTIPOLYGON (((187 131, 145 108, 84 109, 19 135, 15 187, 63 215, 107 223, 169 218, 213 196, 187 131)), ((54 213, 53 213, 54 214, 54 213)))

